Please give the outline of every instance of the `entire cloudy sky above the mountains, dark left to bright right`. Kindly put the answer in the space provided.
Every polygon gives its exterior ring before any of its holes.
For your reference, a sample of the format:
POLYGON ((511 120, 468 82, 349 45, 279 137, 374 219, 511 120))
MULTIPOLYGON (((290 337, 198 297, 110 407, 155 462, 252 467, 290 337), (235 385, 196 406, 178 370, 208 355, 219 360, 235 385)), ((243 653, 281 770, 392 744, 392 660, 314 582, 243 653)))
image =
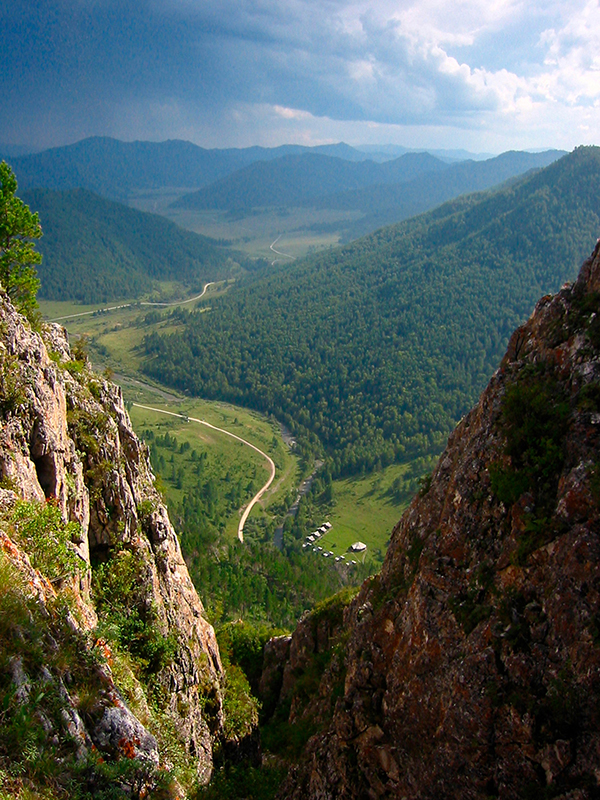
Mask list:
POLYGON ((600 144, 600 0, 0 0, 0 143, 600 144))

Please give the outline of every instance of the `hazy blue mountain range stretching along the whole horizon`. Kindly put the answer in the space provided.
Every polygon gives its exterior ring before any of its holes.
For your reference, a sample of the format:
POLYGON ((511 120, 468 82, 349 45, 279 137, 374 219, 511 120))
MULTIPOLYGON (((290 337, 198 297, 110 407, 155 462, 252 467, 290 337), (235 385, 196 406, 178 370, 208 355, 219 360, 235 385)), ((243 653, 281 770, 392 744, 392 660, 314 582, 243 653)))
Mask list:
MULTIPOLYGON (((174 212, 178 220, 200 231, 207 230, 206 220, 190 217, 188 211, 216 209, 243 216, 257 208, 327 210, 334 212, 333 220, 312 221, 308 228, 332 231, 341 241, 350 241, 564 155, 551 150, 508 152, 456 162, 404 150, 390 146, 386 153, 372 153, 344 143, 208 150, 178 140, 121 142, 93 137, 9 161, 21 191, 84 188, 130 205, 144 205, 152 198, 153 210, 174 212), (398 152, 401 155, 394 157, 398 152)), ((306 226, 296 224, 299 230, 306 226)), ((290 232, 295 230, 291 219, 286 225, 290 232)))

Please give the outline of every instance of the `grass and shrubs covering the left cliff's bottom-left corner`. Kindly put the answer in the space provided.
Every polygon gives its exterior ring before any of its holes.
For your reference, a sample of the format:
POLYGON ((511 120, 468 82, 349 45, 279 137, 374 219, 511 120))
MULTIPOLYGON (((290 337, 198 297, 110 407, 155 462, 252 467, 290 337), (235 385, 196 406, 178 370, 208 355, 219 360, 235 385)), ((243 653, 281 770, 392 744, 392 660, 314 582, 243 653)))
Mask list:
MULTIPOLYGON (((119 691, 111 675, 120 673, 121 691, 127 680, 138 687, 138 704, 144 695, 124 655, 78 621, 78 598, 64 571, 72 557, 82 566, 69 547, 72 523, 62 522, 52 503, 2 501, 0 796, 26 797, 28 787, 47 798, 117 800, 168 790, 173 775, 157 769, 151 750, 128 758, 127 747, 133 756, 137 746, 124 741, 123 757, 111 759, 91 747, 87 731, 98 727, 107 695, 119 691), (32 553, 37 571, 15 558, 10 537, 32 553)), ((146 710, 146 725, 159 733, 159 717, 146 710)))

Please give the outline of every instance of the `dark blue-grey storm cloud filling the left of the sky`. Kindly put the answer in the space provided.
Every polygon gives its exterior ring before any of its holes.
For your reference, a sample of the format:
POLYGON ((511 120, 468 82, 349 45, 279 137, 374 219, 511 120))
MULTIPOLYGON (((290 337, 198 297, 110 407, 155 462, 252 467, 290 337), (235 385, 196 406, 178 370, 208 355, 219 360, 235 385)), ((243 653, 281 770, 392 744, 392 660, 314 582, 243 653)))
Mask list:
POLYGON ((103 123, 110 128, 132 104, 165 101, 205 115, 266 103, 387 122, 453 112, 464 100, 473 105, 463 86, 448 92, 452 76, 432 82, 435 56, 410 55, 397 26, 366 14, 362 28, 345 28, 347 7, 333 0, 4 2, 0 140, 22 138, 24 127, 38 136, 63 126, 85 135, 103 123))

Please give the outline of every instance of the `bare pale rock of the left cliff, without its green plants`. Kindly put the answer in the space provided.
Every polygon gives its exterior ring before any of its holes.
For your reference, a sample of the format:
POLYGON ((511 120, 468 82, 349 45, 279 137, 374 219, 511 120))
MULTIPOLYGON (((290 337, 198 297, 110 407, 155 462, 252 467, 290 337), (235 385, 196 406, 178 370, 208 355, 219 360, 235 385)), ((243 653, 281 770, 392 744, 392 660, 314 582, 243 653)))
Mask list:
MULTIPOLYGON (((207 780, 213 742, 222 733, 219 650, 120 389, 74 359, 62 328, 50 326, 42 338, 4 297, 0 330, 0 510, 10 510, 17 498, 50 500, 65 520, 78 523, 73 547, 83 569, 71 579, 77 610, 71 625, 82 642, 98 620, 91 566, 113 563, 123 554, 135 564, 140 613, 151 618, 157 639, 170 643, 169 658, 154 670, 154 696, 207 780)), ((39 603, 49 606, 61 581, 50 584, 33 569, 9 532, 0 537, 3 552, 39 603)), ((130 755, 158 763, 156 741, 116 689, 110 651, 108 656, 98 676, 94 725, 86 727, 74 712, 73 735, 101 752, 116 752, 121 740, 130 741, 135 745, 130 755)), ((15 670, 18 674, 18 665, 15 670)), ((48 679, 59 681, 56 675, 48 679)))

